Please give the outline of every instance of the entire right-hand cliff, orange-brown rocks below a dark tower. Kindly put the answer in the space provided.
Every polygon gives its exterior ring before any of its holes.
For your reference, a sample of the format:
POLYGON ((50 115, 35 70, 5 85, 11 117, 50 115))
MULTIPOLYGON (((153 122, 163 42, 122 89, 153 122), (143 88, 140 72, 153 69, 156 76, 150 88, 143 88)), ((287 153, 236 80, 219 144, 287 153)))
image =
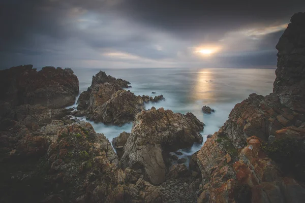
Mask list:
POLYGON ((276 48, 273 92, 237 104, 198 152, 198 202, 305 199, 305 13, 292 16, 276 48))

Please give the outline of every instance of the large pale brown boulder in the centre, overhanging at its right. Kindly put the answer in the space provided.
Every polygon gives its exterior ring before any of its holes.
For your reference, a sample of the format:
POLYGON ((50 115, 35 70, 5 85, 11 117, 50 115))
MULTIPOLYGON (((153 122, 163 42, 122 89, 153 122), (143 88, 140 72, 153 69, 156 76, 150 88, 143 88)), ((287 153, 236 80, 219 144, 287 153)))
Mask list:
POLYGON ((142 111, 135 118, 121 162, 125 167, 143 168, 146 180, 160 184, 166 174, 163 153, 201 143, 203 125, 192 113, 154 107, 142 111))

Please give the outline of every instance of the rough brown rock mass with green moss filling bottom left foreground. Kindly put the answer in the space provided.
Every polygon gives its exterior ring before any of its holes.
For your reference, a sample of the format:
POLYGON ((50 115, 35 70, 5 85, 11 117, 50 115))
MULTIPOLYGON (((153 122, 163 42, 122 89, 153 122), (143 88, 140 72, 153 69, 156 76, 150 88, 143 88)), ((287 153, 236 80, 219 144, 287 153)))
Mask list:
POLYGON ((89 123, 53 121, 37 133, 9 139, 17 147, 1 159, 1 202, 163 202, 141 170, 119 168, 110 142, 89 123))

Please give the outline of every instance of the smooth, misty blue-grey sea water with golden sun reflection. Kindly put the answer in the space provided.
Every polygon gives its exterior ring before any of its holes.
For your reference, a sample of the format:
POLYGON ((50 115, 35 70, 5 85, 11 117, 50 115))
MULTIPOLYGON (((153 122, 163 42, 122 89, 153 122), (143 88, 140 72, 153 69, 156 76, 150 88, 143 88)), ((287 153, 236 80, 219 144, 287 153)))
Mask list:
MULTIPOLYGON (((99 69, 73 69, 79 80, 81 93, 91 85, 92 76, 99 69)), ((208 134, 217 131, 228 119, 235 104, 248 98, 249 94, 267 95, 272 92, 275 69, 103 69, 107 75, 121 78, 131 83, 130 90, 136 95, 155 96, 163 94, 165 101, 148 104, 146 109, 155 106, 173 112, 185 114, 192 112, 205 127, 202 133, 204 141, 208 134), (155 91, 156 94, 151 92, 155 91), (203 114, 202 106, 207 105, 216 112, 203 114)), ((124 126, 94 123, 95 130, 104 133, 111 142, 120 132, 130 132, 132 124, 124 126)), ((202 145, 180 151, 191 155, 202 145)))

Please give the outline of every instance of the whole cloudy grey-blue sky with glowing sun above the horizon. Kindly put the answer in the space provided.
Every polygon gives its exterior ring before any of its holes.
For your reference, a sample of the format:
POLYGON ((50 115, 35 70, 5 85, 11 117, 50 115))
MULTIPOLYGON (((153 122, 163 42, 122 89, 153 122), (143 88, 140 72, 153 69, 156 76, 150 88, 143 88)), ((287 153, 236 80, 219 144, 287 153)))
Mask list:
POLYGON ((1 0, 0 68, 276 67, 305 1, 1 0))

